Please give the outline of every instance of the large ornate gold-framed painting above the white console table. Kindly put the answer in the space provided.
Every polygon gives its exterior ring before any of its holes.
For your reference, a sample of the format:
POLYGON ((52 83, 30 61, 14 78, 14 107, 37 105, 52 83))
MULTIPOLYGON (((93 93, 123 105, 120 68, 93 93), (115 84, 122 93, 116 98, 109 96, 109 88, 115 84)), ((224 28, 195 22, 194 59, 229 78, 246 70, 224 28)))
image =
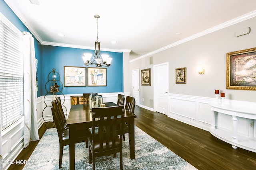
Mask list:
POLYGON ((256 90, 256 48, 227 53, 226 89, 256 90))

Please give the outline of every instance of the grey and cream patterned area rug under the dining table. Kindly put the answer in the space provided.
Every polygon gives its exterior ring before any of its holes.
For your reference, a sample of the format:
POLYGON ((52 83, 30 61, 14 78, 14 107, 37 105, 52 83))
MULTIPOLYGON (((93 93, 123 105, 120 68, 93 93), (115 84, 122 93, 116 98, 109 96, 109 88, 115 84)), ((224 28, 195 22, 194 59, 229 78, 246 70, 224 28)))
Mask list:
MULTIPOLYGON (((124 170, 196 170, 180 156, 164 147, 144 131, 135 126, 135 159, 130 159, 128 134, 123 142, 124 170)), ((103 156, 96 158, 96 170, 120 169, 119 153, 116 158, 103 156)), ((47 129, 30 156, 24 170, 58 170, 59 141, 56 128, 47 129)), ((88 149, 85 143, 76 144, 76 170, 91 170, 88 164, 88 149)), ((65 146, 61 170, 69 169, 69 147, 65 146)))

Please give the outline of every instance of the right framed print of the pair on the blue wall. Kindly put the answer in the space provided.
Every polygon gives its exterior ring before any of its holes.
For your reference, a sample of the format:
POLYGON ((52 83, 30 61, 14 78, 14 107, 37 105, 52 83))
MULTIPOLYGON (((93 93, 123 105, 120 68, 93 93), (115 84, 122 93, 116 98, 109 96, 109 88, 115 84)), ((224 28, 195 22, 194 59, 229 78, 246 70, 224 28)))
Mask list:
POLYGON ((92 68, 87 70, 88 86, 107 86, 107 68, 92 68))

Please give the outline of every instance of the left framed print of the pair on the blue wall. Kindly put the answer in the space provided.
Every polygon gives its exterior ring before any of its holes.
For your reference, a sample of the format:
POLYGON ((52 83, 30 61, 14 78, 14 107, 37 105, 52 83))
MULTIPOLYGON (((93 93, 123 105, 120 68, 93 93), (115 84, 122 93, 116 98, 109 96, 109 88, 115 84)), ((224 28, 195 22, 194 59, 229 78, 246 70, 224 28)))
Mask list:
POLYGON ((86 67, 64 66, 64 86, 86 86, 86 67))

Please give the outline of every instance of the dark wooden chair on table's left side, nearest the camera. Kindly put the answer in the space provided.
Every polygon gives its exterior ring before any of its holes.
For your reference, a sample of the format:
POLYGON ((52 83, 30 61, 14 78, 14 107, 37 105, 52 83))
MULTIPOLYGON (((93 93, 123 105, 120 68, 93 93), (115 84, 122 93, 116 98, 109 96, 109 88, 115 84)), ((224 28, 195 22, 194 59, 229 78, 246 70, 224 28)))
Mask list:
MULTIPOLYGON (((56 125, 56 129, 59 137, 60 144, 60 157, 59 157, 59 168, 62 165, 62 155, 63 155, 63 147, 69 145, 69 128, 65 128, 63 121, 61 120, 60 110, 57 105, 57 101, 52 101, 52 116, 56 125)), ((88 140, 87 137, 90 135, 90 131, 88 128, 80 129, 76 131, 75 134, 75 142, 81 143, 86 142, 86 147, 88 148, 88 140)))

